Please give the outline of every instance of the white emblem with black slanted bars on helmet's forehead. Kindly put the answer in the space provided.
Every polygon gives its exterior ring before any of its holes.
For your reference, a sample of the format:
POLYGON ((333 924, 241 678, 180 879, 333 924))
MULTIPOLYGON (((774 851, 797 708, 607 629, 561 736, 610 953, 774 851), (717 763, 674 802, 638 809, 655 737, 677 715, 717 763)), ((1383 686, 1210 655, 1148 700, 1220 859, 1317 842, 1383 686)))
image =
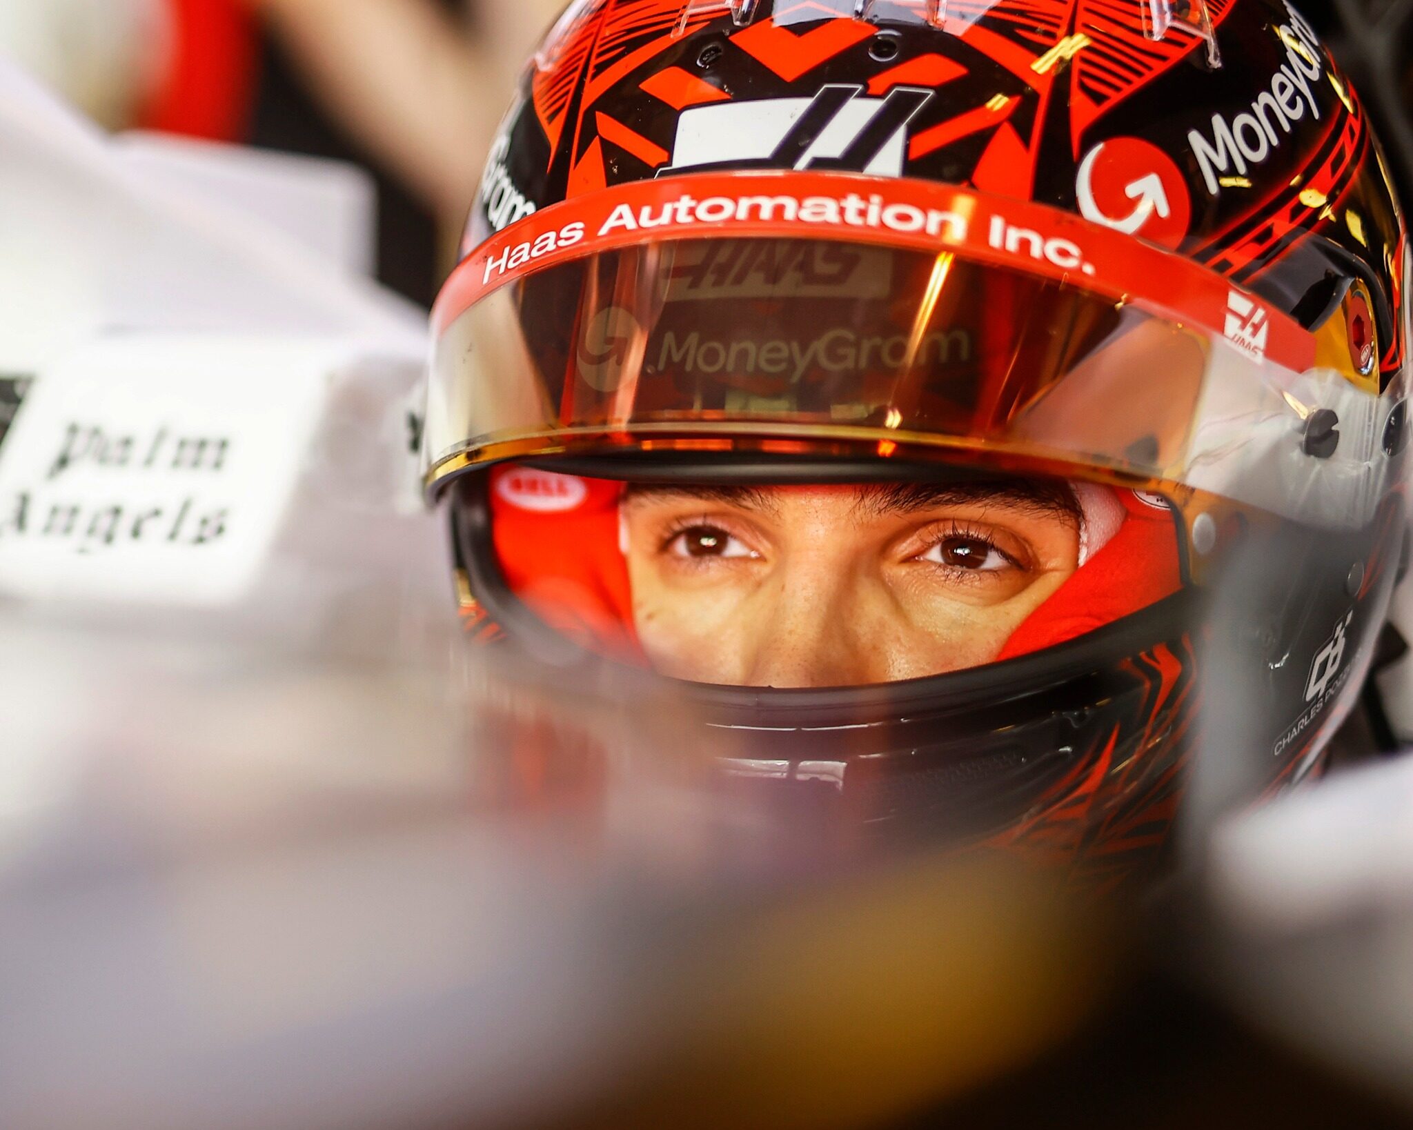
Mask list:
POLYGON ((800 168, 901 177, 907 123, 931 90, 894 86, 859 97, 862 86, 824 86, 814 97, 771 97, 685 110, 673 164, 660 170, 800 168))

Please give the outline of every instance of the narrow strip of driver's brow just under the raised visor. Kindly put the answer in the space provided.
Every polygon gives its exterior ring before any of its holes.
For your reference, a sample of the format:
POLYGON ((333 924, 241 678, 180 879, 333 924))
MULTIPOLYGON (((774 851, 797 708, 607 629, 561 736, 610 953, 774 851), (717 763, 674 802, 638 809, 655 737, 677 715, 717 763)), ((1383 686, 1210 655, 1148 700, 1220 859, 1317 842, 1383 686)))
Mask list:
POLYGON ((985 507, 1080 524, 1080 506, 1068 483, 1051 479, 978 479, 961 482, 708 484, 632 483, 633 504, 716 504, 764 517, 796 510, 828 510, 841 517, 893 517, 941 509, 985 507))

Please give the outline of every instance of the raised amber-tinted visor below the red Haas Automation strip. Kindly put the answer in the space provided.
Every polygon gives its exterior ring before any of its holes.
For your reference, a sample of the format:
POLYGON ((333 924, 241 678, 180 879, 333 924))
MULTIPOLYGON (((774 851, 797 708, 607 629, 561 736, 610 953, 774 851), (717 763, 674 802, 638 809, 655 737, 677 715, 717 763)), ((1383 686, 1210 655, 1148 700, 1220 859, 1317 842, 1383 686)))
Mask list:
POLYGON ((432 475, 562 451, 845 441, 1016 452, 1358 524, 1376 398, 1136 302, 951 251, 692 239, 558 263, 456 318, 432 475), (1300 449, 1316 407, 1358 422, 1300 449))

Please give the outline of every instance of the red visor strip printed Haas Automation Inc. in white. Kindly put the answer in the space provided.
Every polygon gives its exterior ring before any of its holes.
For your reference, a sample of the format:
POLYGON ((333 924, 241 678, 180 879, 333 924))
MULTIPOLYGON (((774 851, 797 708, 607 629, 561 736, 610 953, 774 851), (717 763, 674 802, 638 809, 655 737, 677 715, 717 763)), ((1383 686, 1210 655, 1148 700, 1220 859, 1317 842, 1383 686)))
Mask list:
POLYGON ((432 308, 441 335, 490 291, 521 275, 646 240, 702 236, 848 239, 1068 281, 1140 299, 1174 322, 1225 338, 1293 373, 1314 336, 1258 295, 1183 256, 1046 205, 930 181, 828 172, 716 172, 588 192, 496 233, 452 273, 432 308))

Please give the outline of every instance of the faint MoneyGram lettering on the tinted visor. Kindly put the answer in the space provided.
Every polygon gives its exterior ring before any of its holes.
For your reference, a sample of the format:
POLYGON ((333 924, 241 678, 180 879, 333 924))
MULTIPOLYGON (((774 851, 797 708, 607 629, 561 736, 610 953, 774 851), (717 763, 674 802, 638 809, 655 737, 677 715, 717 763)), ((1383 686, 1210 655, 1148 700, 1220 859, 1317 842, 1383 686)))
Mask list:
POLYGON ((797 384, 811 373, 899 371, 968 362, 972 340, 965 329, 933 331, 916 347, 906 333, 862 335, 842 326, 808 340, 704 338, 698 331, 685 335, 668 331, 654 353, 660 373, 767 376, 797 384))

